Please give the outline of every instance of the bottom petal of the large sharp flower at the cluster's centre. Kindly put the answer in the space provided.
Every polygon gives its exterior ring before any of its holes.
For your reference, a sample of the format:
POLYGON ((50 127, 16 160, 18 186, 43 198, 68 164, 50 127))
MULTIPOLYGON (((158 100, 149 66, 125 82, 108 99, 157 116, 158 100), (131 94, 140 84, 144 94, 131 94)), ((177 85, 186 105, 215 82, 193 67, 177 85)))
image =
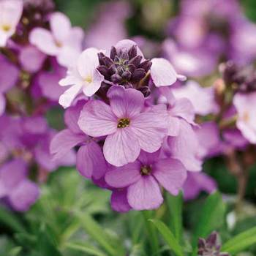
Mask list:
POLYGON ((140 146, 135 134, 128 128, 119 128, 108 135, 103 146, 105 159, 115 166, 134 162, 140 154, 140 146))

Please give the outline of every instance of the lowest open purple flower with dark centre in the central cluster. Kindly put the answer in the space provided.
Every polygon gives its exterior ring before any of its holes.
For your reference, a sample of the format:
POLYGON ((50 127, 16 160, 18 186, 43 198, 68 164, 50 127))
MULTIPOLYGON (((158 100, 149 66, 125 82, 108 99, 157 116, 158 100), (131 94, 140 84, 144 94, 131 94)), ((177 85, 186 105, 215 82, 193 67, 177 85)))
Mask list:
POLYGON ((127 187, 129 206, 135 210, 158 208, 163 201, 160 187, 178 195, 186 178, 187 171, 178 160, 159 159, 159 152, 148 154, 144 151, 135 162, 113 167, 105 175, 111 187, 127 187))

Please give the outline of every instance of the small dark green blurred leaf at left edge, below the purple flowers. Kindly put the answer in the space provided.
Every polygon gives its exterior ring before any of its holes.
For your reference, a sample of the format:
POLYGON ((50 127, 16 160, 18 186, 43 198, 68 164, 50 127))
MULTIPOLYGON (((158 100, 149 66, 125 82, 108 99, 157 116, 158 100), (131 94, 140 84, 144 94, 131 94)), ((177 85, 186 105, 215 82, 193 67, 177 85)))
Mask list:
POLYGON ((25 227, 23 227, 23 225, 20 223, 18 217, 13 214, 12 211, 9 211, 4 207, 0 207, 0 222, 12 228, 12 230, 15 232, 26 231, 25 227))

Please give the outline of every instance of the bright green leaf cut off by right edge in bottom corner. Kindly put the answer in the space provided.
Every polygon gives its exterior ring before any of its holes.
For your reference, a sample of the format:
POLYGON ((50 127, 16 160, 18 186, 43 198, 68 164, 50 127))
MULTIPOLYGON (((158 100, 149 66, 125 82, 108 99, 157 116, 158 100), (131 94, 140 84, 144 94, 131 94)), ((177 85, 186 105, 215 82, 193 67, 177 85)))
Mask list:
POLYGON ((242 252, 244 249, 256 244, 256 227, 252 227, 237 236, 231 238, 222 246, 222 252, 229 252, 236 255, 238 252, 242 252))

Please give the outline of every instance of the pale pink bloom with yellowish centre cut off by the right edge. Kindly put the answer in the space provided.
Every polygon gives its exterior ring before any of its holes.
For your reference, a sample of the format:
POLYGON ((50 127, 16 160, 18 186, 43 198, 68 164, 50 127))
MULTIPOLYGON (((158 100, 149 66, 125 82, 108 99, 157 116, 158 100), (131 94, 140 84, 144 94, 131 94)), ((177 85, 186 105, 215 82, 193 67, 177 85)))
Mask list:
POLYGON ((236 94, 233 104, 238 112, 236 126, 244 138, 250 143, 256 143, 256 92, 249 94, 236 94))

